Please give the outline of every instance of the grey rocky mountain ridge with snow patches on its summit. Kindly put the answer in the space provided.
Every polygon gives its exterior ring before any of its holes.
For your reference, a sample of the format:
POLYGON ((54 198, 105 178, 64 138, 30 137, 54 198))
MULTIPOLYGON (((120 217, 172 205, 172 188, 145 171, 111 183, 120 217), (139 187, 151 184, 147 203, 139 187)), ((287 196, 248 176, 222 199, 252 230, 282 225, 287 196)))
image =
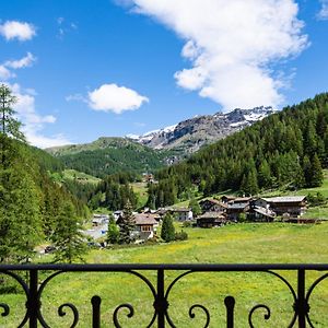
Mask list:
POLYGON ((225 138, 276 113, 272 107, 236 108, 230 113, 197 116, 177 125, 153 130, 142 136, 127 136, 153 149, 175 149, 192 153, 202 145, 225 138))

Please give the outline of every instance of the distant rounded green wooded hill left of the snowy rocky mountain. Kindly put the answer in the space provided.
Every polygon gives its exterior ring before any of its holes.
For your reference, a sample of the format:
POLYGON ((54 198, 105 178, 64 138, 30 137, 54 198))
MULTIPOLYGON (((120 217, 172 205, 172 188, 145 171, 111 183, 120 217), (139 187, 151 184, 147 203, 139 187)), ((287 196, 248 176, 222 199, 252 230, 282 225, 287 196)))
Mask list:
POLYGON ((103 178, 119 172, 154 172, 166 165, 167 151, 154 151, 125 138, 99 138, 87 144, 47 150, 66 167, 103 178))

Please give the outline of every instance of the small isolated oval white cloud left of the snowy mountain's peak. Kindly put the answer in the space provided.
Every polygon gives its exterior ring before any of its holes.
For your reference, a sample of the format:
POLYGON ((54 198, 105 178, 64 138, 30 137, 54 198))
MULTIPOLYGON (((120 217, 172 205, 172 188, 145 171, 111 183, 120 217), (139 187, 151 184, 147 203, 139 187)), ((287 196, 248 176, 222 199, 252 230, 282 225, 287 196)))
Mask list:
POLYGON ((125 110, 138 109, 149 98, 134 90, 116 84, 103 84, 99 89, 89 92, 89 105, 95 110, 121 114, 125 110))

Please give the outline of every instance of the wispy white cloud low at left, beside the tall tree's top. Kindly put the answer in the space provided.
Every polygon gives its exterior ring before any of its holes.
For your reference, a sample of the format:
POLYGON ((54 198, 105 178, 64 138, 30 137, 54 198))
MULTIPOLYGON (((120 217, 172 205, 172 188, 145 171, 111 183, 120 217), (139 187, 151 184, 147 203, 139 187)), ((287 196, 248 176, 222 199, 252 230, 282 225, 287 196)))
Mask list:
POLYGON ((43 129, 45 125, 56 122, 56 117, 52 115, 42 116, 36 112, 34 93, 31 93, 30 90, 22 90, 16 83, 8 85, 17 97, 14 109, 17 112, 17 118, 23 122, 22 131, 31 144, 39 148, 49 148, 71 143, 62 134, 44 136, 43 129))

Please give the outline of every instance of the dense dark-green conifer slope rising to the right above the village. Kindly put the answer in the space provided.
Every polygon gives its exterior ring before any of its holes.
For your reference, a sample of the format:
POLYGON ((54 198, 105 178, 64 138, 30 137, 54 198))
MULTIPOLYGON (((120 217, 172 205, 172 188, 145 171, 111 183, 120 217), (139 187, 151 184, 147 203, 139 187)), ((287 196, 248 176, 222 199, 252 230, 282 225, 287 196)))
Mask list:
POLYGON ((162 169, 149 203, 172 204, 197 189, 256 195, 260 189, 315 187, 328 166, 328 93, 288 106, 162 169))

